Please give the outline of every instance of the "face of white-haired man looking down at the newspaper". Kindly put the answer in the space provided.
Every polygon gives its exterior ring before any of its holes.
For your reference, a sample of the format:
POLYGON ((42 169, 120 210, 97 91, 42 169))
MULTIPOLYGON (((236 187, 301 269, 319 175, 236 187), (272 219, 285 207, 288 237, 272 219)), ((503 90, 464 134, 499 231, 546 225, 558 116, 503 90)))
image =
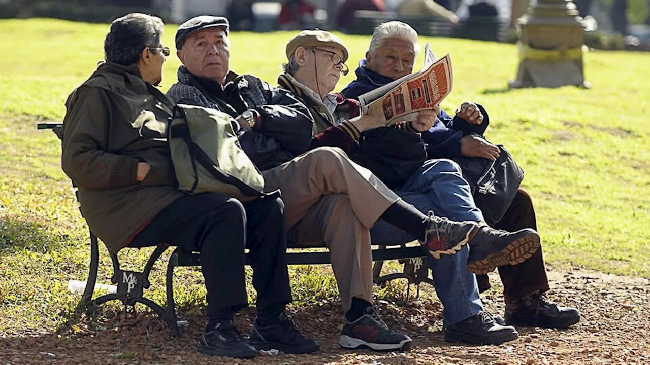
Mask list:
POLYGON ((386 38, 375 54, 366 53, 366 67, 385 77, 399 79, 413 71, 415 47, 400 38, 386 38))

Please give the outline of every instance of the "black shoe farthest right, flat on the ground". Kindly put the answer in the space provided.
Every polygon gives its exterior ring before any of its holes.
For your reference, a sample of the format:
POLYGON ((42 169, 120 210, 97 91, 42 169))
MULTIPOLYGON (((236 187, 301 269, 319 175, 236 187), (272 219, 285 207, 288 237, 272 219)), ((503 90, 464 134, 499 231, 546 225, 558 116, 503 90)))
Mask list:
POLYGON ((517 327, 567 328, 580 321, 580 312, 534 293, 506 304, 504 317, 506 323, 517 327))

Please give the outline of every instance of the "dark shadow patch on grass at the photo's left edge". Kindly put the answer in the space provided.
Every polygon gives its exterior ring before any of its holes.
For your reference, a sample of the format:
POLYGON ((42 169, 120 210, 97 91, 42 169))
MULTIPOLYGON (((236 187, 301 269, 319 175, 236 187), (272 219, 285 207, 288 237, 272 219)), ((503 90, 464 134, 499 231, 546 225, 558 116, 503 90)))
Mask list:
POLYGON ((0 217, 0 251, 27 249, 49 252, 61 247, 66 236, 51 234, 44 225, 11 216, 0 217))

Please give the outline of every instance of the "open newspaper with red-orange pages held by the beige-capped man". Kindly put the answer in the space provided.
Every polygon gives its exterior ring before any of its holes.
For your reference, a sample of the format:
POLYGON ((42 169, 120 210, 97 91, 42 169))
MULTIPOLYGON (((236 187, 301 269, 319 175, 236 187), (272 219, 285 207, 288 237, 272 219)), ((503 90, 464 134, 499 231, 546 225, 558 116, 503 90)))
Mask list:
POLYGON ((424 67, 381 88, 359 96, 361 114, 372 114, 386 125, 415 120, 418 110, 433 109, 451 92, 454 72, 451 56, 435 60, 430 45, 424 47, 424 67))

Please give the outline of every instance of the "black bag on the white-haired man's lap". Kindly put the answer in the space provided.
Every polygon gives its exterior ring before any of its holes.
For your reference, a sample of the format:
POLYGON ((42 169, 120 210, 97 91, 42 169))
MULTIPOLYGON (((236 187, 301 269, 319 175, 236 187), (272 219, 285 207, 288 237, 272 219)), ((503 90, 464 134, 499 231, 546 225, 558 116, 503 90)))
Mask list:
POLYGON ((474 195, 474 203, 489 225, 503 218, 524 179, 524 171, 506 147, 497 147, 499 158, 495 161, 482 157, 452 158, 460 165, 474 195))

